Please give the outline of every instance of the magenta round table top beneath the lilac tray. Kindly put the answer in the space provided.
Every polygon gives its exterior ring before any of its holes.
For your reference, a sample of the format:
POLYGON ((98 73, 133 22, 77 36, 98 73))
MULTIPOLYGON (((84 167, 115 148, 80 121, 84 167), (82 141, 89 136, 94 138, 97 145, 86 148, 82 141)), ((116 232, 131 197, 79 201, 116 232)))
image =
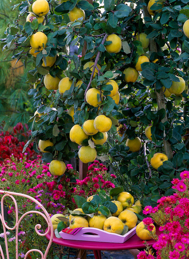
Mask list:
MULTIPOLYGON (((47 231, 47 229, 46 229, 47 231)), ((156 227, 156 234, 159 235, 161 232, 159 231, 159 227, 156 227)), ((46 238, 50 240, 50 232, 46 235, 46 238)), ((79 241, 79 240, 67 240, 63 238, 57 238, 53 236, 53 243, 78 248, 78 249, 87 249, 87 250, 128 250, 128 249, 140 249, 145 248, 145 244, 142 243, 142 240, 134 234, 130 239, 125 241, 124 243, 108 243, 108 242, 91 242, 91 241, 79 241)), ((147 240, 149 245, 155 243, 154 239, 147 240)))

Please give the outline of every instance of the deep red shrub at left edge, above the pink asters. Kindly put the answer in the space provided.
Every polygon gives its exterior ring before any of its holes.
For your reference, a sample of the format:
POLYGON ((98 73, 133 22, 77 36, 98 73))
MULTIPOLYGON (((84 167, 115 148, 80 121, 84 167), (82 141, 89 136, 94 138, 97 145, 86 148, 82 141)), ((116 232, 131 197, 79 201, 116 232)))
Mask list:
MULTIPOLYGON (((18 123, 13 132, 8 131, 0 132, 0 164, 10 160, 10 155, 14 154, 14 157, 23 158, 22 150, 26 144, 28 138, 31 137, 31 130, 28 130, 28 125, 25 127, 18 123)), ((33 150, 33 143, 29 144, 26 148, 27 158, 34 159, 35 151, 33 150)))

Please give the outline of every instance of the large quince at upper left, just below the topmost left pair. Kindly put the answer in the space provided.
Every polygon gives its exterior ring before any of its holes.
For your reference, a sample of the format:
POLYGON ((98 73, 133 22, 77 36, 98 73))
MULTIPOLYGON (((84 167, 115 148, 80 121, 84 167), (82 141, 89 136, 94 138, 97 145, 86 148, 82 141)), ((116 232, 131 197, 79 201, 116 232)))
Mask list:
POLYGON ((30 45, 33 49, 41 51, 47 44, 47 36, 43 32, 36 32, 30 37, 30 45))

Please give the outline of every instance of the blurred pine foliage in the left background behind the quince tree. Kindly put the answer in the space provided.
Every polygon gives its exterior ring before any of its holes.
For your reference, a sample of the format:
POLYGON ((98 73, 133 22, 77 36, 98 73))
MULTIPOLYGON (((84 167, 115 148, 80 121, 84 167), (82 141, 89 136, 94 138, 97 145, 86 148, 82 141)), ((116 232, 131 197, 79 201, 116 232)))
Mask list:
MULTIPOLYGON (((4 38, 4 32, 8 23, 12 23, 17 16, 17 10, 12 11, 14 3, 0 0, 0 38, 4 38)), ((3 130, 12 130, 18 122, 27 123, 34 113, 32 100, 27 92, 33 87, 26 82, 27 70, 24 68, 22 59, 16 63, 11 55, 4 60, 2 46, 0 45, 0 125, 3 130)), ((28 67, 32 62, 28 62, 28 67)))

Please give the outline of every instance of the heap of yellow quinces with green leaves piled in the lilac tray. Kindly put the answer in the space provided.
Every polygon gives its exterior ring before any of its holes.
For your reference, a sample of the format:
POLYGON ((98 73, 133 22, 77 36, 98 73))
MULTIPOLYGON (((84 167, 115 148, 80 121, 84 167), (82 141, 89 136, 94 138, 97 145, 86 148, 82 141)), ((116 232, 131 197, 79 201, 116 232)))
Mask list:
POLYGON ((57 228, 58 233, 66 227, 93 227, 124 235, 139 223, 137 215, 140 216, 140 200, 134 203, 133 196, 122 188, 114 188, 108 195, 100 191, 87 200, 75 195, 74 200, 77 209, 67 209, 63 214, 51 217, 53 229, 57 228))

